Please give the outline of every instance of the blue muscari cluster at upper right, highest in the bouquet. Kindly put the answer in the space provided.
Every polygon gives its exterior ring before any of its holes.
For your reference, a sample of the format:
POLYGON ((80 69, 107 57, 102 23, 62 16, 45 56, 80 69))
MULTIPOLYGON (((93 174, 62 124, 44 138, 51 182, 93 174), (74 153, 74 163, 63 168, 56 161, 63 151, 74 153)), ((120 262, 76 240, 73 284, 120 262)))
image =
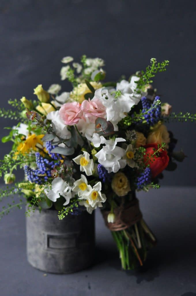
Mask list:
POLYGON ((156 106, 156 101, 159 100, 159 99, 160 99, 160 97, 156 96, 154 101, 153 101, 153 104, 151 106, 151 100, 147 99, 145 96, 143 98, 141 98, 142 113, 145 113, 146 110, 152 108, 151 110, 149 110, 147 112, 147 114, 144 115, 144 120, 146 120, 146 122, 150 126, 155 125, 161 119, 161 104, 156 106))

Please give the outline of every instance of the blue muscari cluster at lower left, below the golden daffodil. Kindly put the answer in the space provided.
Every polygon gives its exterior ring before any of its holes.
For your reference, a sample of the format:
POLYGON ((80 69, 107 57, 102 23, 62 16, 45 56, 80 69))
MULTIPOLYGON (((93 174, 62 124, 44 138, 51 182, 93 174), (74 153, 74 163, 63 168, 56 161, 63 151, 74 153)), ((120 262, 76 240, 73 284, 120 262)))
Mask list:
POLYGON ((35 159, 37 169, 33 170, 28 165, 25 165, 25 175, 30 182, 43 184, 48 181, 49 177, 51 177, 51 170, 53 170, 55 165, 59 165, 60 162, 50 161, 47 158, 43 158, 39 152, 35 153, 35 159))

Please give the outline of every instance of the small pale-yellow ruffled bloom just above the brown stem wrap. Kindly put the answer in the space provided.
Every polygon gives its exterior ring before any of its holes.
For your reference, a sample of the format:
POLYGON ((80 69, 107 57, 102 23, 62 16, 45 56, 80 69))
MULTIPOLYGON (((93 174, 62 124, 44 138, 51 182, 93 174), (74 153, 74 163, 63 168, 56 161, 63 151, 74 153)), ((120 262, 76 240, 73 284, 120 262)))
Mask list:
POLYGON ((118 172, 114 175, 111 185, 112 185, 112 190, 118 196, 125 196, 131 190, 129 180, 125 176, 125 174, 122 172, 118 172))

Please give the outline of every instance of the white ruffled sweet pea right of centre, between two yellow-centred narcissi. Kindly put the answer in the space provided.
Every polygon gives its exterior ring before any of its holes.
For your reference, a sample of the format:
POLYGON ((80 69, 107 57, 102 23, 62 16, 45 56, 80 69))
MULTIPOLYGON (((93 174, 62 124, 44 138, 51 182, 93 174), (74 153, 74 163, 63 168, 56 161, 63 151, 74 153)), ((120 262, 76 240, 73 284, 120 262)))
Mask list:
POLYGON ((117 142, 126 141, 122 138, 116 138, 110 141, 106 146, 104 146, 99 152, 95 154, 98 158, 98 162, 106 168, 108 173, 116 173, 120 168, 124 168, 126 165, 126 160, 122 159, 125 155, 125 149, 116 146, 117 142))

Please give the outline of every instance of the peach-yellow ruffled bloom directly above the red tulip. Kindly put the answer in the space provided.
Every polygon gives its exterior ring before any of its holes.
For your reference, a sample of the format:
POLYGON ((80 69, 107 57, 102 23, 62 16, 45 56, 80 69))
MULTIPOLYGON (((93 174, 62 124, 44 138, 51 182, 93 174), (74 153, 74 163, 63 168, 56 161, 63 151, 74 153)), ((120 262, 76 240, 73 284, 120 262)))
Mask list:
POLYGON ((147 144, 156 143, 161 145, 166 143, 166 148, 168 149, 168 143, 170 142, 169 133, 164 124, 157 123, 153 130, 148 134, 147 144))

